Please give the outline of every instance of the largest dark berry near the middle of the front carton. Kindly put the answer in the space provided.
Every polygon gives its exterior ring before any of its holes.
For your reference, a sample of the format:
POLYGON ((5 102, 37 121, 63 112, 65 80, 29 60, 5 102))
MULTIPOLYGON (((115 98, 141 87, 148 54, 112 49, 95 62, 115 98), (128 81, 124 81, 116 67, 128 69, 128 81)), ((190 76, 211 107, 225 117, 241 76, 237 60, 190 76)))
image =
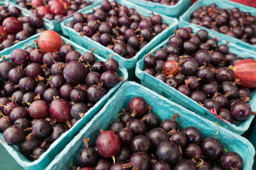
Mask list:
POLYGON ((157 146, 156 155, 158 160, 176 164, 180 157, 179 147, 171 141, 163 141, 157 146))

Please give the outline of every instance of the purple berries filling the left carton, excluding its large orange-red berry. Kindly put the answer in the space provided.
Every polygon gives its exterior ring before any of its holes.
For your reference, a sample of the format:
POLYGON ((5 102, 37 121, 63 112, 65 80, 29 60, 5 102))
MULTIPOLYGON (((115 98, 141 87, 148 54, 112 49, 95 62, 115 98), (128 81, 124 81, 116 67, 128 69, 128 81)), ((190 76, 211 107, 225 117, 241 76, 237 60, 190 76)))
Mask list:
POLYGON ((0 132, 33 159, 120 81, 115 59, 96 61, 93 52, 81 55, 68 44, 59 53, 17 48, 10 58, 0 63, 0 132))

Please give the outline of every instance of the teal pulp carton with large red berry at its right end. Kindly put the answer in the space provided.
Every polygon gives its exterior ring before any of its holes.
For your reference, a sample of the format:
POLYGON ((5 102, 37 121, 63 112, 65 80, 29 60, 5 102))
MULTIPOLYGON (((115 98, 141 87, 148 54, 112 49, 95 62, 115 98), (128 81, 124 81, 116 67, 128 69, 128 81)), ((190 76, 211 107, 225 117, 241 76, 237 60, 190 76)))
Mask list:
MULTIPOLYGON (((198 27, 189 27, 193 29, 194 34, 198 30, 200 30, 198 27)), ((209 36, 209 38, 213 38, 214 36, 215 34, 209 36)), ((220 39, 219 36, 217 36, 217 39, 218 45, 225 44, 227 42, 220 39)), ((160 45, 156 46, 154 50, 158 50, 159 48, 167 46, 168 41, 169 38, 163 41, 163 43, 161 43, 160 45)), ((246 49, 238 49, 237 45, 234 43, 229 43, 228 46, 229 52, 235 53, 238 57, 241 55, 241 57, 244 58, 253 57, 253 59, 256 59, 256 53, 250 52, 246 49)), ((152 55, 156 53, 154 50, 152 50, 152 55)), ((218 124, 222 127, 225 127, 226 129, 237 134, 243 134, 250 127, 254 115, 252 115, 248 120, 240 121, 237 124, 231 124, 230 122, 227 122, 225 120, 225 122, 223 122, 219 118, 215 117, 209 110, 207 110, 207 108, 200 106, 200 104, 196 103, 196 101, 193 101, 193 99, 189 98, 188 96, 185 96, 175 88, 170 87, 169 85, 155 78, 154 76, 147 74, 145 71, 143 71, 143 69, 145 68, 143 59, 145 58, 145 56, 136 65, 136 76, 141 80, 141 85, 144 85, 145 87, 148 87, 149 89, 156 91, 158 94, 161 94, 167 99, 170 99, 171 101, 178 103, 191 111, 195 111, 195 113, 202 117, 212 120, 213 122, 218 122, 218 124)), ((256 110, 256 89, 252 90, 252 99, 249 104, 252 107, 253 111, 256 110)))

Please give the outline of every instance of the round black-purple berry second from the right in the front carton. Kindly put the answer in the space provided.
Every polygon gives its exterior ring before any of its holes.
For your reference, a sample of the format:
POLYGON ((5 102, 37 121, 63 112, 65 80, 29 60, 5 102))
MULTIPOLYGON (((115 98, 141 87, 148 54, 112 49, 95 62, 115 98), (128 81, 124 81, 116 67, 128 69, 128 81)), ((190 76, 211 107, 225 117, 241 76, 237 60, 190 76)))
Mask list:
POLYGON ((204 141, 202 141, 201 148, 203 155, 209 160, 220 159, 221 155, 223 155, 223 145, 216 138, 205 138, 204 141))

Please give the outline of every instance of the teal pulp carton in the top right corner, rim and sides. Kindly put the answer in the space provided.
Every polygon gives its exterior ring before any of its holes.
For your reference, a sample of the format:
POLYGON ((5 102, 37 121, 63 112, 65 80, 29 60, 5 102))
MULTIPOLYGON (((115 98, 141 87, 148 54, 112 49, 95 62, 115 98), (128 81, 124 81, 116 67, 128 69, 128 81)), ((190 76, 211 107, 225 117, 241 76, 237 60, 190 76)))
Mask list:
POLYGON ((180 16, 179 27, 186 27, 187 25, 193 25, 196 27, 200 27, 202 29, 207 30, 209 33, 213 32, 214 35, 216 35, 220 38, 223 38, 227 41, 231 41, 232 43, 234 43, 237 46, 237 48, 244 48, 244 49, 256 52, 255 45, 251 45, 250 43, 246 43, 240 39, 233 38, 231 36, 227 36, 226 34, 222 34, 221 32, 212 31, 211 29, 208 29, 206 27, 201 27, 200 25, 190 23, 190 15, 193 13, 193 11, 198 10, 202 6, 209 6, 212 3, 215 3, 218 7, 223 8, 223 9, 239 8, 239 10, 241 10, 241 11, 244 11, 244 12, 248 11, 248 12, 252 13, 252 15, 256 16, 256 8, 246 6, 243 4, 234 3, 232 1, 223 1, 223 0, 207 0, 207 1, 198 0, 198 1, 196 1, 196 3, 194 3, 192 6, 190 6, 190 8, 182 16, 180 16))

